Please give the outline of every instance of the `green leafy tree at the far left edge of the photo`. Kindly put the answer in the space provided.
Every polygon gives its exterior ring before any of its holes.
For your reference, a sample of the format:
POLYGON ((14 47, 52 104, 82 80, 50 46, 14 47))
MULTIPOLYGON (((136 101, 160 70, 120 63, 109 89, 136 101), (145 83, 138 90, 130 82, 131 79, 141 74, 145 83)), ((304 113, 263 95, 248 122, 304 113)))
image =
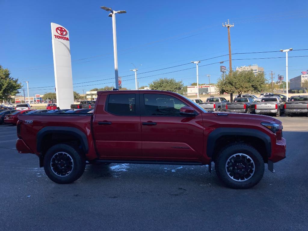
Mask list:
POLYGON ((18 79, 10 77, 9 69, 3 69, 0 65, 0 99, 10 100, 12 95, 18 93, 18 89, 22 88, 22 84, 18 82, 18 79))

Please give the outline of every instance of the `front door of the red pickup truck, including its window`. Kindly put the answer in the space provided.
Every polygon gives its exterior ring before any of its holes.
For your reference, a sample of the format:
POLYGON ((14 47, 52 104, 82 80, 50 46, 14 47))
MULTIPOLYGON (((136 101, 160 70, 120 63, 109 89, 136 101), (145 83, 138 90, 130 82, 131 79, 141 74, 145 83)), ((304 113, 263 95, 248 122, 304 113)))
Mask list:
POLYGON ((173 94, 140 93, 142 156, 151 160, 201 158, 202 114, 180 115, 180 108, 191 104, 173 94))

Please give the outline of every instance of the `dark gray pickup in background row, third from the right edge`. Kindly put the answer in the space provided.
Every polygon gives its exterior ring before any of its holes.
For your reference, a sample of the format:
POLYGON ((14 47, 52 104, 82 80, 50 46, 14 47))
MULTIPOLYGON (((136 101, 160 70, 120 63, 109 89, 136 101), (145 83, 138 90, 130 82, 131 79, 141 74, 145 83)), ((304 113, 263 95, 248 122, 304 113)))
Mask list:
POLYGON ((232 103, 227 103, 225 111, 254 113, 255 101, 250 97, 237 97, 233 99, 232 103))

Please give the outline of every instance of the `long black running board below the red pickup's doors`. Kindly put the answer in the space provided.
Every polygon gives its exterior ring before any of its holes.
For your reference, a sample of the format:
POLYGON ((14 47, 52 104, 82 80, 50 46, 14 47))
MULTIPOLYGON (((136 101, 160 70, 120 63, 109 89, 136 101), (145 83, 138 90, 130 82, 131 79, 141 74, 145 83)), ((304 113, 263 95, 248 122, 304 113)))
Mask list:
POLYGON ((161 160, 88 160, 89 164, 168 164, 168 165, 204 165, 201 162, 161 161, 161 160))

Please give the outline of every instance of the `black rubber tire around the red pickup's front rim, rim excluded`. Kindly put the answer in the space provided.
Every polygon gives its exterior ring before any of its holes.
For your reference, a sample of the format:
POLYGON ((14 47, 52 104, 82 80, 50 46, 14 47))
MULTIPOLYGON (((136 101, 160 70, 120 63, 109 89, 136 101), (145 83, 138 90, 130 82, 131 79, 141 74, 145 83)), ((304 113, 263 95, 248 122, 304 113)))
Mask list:
POLYGON ((260 153, 252 146, 245 143, 233 143, 221 149, 215 158, 215 171, 218 178, 228 187, 235 189, 251 188, 259 183, 264 174, 264 161, 260 153), (254 172, 251 178, 245 181, 232 179, 226 170, 228 159, 237 153, 245 154, 253 160, 254 172))

